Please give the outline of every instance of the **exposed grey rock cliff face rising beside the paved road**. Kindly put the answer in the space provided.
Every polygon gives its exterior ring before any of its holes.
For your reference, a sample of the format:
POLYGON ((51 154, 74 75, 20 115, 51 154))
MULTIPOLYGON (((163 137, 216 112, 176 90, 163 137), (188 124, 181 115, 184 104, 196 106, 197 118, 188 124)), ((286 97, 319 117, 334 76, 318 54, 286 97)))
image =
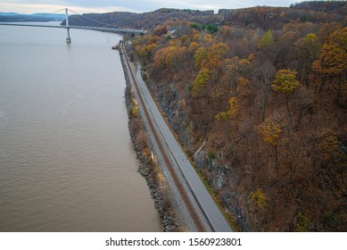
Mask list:
POLYGON ((179 91, 182 89, 181 82, 160 84, 148 80, 148 83, 171 129, 178 136, 182 146, 186 148, 186 153, 192 157, 195 166, 218 194, 221 203, 235 216, 234 220, 238 227, 243 231, 253 231, 254 229, 244 217, 244 212, 239 205, 239 200, 247 200, 247 197, 240 196, 239 190, 234 188, 235 184, 239 183, 235 168, 230 162, 227 162, 222 154, 211 155, 205 146, 205 141, 201 146, 194 144, 193 121, 189 118, 189 112, 182 107, 185 95, 179 91), (200 147, 197 148, 197 146, 200 147))

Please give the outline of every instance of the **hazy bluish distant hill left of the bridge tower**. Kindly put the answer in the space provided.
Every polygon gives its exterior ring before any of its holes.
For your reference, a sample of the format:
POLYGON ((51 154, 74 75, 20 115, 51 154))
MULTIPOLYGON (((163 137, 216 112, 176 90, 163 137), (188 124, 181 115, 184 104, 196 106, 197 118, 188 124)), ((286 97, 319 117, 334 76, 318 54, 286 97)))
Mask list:
POLYGON ((0 21, 62 21, 65 14, 0 12, 0 21))

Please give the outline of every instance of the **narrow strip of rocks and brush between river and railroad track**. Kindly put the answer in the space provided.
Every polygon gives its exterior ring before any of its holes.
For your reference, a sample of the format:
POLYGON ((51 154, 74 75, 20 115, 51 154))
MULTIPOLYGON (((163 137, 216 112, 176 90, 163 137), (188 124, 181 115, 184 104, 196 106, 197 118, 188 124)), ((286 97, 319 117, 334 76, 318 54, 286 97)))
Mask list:
MULTIPOLYGON (((136 158, 141 162, 141 165, 138 167, 138 172, 145 178, 148 188, 150 189, 151 196, 154 202, 154 207, 159 213, 159 219, 161 221, 161 227, 164 232, 173 232, 179 231, 177 220, 173 215, 171 210, 171 205, 167 197, 164 196, 165 190, 161 187, 158 179, 158 174, 154 170, 153 162, 148 160, 148 157, 145 157, 143 147, 139 146, 137 143, 137 137, 140 130, 145 131, 144 123, 142 119, 135 119, 132 115, 134 104, 133 100, 135 98, 134 93, 131 91, 129 76, 126 64, 124 62, 123 54, 120 50, 120 61, 124 71, 124 77, 126 79, 126 90, 125 90, 125 99, 128 110, 128 127, 130 132, 130 137, 136 152, 136 158), (135 124, 136 123, 136 124, 135 124)), ((148 147, 148 140, 146 142, 148 147)))

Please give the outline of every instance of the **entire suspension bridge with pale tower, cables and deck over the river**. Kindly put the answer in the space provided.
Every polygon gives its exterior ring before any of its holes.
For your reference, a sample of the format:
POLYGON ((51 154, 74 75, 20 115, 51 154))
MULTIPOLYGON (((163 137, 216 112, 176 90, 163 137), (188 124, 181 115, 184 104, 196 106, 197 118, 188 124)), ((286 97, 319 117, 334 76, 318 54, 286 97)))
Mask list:
MULTIPOLYGON (((68 8, 52 12, 50 14, 54 14, 57 12, 65 11, 65 25, 45 25, 45 24, 30 24, 30 23, 15 23, 15 22, 0 22, 0 25, 10 25, 10 26, 26 26, 26 27, 45 27, 45 28, 60 28, 60 29, 66 29, 66 42, 70 44, 71 37, 70 37, 70 29, 91 29, 91 30, 97 30, 97 31, 104 31, 104 32, 112 32, 112 33, 145 33, 145 30, 143 29, 128 29, 128 28, 120 28, 118 26, 115 26, 110 23, 106 23, 103 21, 98 21, 93 18, 87 17, 86 15, 79 14, 78 12, 74 12, 68 8), (97 23, 99 26, 80 26, 80 25, 69 25, 69 11, 73 12, 74 14, 77 14, 88 21, 95 21, 95 24, 97 23)), ((17 21, 30 21, 32 17, 21 19, 17 21)))

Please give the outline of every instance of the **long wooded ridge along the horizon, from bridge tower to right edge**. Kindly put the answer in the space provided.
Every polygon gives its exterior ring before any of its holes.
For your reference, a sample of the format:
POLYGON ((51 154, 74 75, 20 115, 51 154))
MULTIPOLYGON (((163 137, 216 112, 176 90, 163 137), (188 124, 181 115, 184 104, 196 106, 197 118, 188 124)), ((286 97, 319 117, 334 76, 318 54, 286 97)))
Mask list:
MULTIPOLYGON (((242 9, 221 9, 213 11, 180 10, 162 8, 153 12, 107 12, 71 15, 71 25, 97 26, 106 24, 129 29, 155 29, 172 21, 192 21, 200 24, 235 24, 242 27, 252 26, 261 29, 280 28, 293 20, 326 22, 343 21, 346 23, 347 2, 310 1, 292 4, 288 7, 255 6, 242 9), (97 20, 97 21, 93 21, 97 20)), ((62 21, 62 25, 65 21, 62 21)))

